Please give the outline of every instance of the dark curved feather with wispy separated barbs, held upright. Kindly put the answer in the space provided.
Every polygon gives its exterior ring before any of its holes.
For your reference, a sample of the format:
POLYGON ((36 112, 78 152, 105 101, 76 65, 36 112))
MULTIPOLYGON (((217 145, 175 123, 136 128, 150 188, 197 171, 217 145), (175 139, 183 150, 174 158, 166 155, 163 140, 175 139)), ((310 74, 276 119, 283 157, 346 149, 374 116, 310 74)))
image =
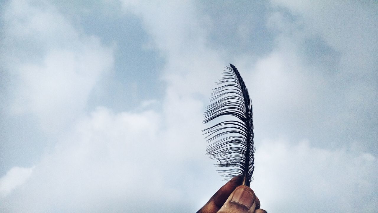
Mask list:
MULTIPOLYGON (((213 89, 210 105, 206 107, 203 123, 222 117, 219 123, 204 129, 209 145, 206 154, 217 160, 226 179, 243 177, 242 185, 249 186, 254 171, 253 108, 248 90, 237 68, 229 64, 219 85, 213 89)), ((220 118, 219 118, 220 119, 220 118)))

